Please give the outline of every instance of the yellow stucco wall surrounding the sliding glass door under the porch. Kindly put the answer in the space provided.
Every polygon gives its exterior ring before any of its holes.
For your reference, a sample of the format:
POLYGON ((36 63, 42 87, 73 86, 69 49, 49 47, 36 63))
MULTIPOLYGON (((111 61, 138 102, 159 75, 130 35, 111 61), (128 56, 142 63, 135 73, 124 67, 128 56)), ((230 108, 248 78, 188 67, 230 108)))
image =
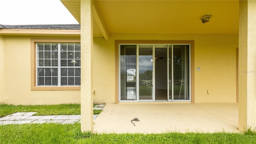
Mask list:
POLYGON ((115 40, 194 40, 195 102, 236 102, 238 34, 110 34, 109 40, 94 38, 94 102, 115 102, 115 40))

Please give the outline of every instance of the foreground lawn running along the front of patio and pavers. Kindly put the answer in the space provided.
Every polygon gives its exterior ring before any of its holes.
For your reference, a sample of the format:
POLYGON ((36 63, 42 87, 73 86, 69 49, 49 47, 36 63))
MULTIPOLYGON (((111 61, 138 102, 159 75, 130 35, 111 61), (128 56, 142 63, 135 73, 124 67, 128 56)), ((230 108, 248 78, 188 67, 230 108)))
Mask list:
POLYGON ((255 144, 256 132, 92 134, 80 124, 9 124, 0 126, 2 144, 255 144))

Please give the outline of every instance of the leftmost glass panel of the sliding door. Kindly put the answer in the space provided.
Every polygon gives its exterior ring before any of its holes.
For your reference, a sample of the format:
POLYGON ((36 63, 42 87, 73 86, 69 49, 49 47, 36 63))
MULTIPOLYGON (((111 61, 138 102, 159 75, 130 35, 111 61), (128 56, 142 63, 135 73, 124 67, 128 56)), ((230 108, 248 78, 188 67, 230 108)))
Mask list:
POLYGON ((136 96, 136 47, 120 46, 120 100, 137 100, 136 96))

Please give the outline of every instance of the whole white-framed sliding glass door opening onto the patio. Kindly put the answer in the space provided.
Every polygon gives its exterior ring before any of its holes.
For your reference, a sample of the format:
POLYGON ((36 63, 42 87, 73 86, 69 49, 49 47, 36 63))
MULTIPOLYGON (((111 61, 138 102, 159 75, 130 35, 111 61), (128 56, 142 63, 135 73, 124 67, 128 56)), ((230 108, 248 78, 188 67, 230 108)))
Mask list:
POLYGON ((189 44, 120 44, 120 102, 190 99, 189 44))

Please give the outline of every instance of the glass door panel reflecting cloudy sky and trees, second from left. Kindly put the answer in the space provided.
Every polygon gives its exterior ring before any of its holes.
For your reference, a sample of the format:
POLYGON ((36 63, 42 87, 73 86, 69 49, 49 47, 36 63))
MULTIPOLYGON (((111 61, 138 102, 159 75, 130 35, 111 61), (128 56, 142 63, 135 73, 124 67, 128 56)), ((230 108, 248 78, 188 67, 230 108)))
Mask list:
POLYGON ((139 46, 139 99, 153 100, 153 46, 139 46))

